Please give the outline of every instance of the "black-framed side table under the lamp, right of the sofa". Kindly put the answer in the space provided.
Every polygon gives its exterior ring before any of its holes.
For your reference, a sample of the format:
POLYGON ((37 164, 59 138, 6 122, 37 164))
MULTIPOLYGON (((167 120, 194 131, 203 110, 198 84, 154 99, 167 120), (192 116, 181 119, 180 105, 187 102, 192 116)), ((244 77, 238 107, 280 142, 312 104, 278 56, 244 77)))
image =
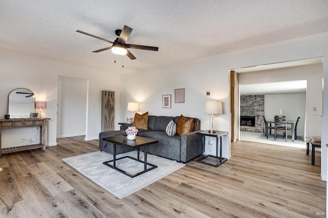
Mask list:
POLYGON ((221 163, 227 160, 227 158, 222 158, 222 136, 227 135, 228 132, 222 132, 222 131, 216 131, 215 133, 209 133, 209 131, 200 131, 197 134, 200 134, 202 136, 201 140, 201 157, 197 159, 197 162, 208 164, 211 166, 219 166, 221 163), (210 136, 210 137, 216 137, 216 156, 213 158, 218 158, 219 162, 216 164, 208 163, 203 161, 203 159, 207 157, 211 157, 210 155, 204 155, 205 151, 205 136, 210 136), (220 156, 218 156, 218 150, 219 150, 219 138, 220 138, 220 156))

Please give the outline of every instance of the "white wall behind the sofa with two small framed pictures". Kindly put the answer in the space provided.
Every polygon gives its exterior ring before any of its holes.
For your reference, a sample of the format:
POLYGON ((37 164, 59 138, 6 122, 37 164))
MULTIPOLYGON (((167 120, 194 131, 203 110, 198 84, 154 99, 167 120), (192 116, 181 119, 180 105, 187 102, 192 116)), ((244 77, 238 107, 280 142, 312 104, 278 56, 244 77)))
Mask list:
MULTIPOLYGON (((208 129, 209 117, 204 114, 204 102, 216 99, 223 102, 223 114, 218 117, 217 129, 230 133, 230 69, 323 56, 323 74, 328 79, 328 64, 327 61, 324 62, 328 57, 327 38, 328 32, 325 32, 122 75, 121 81, 124 81, 124 84, 121 86, 121 108, 126 110, 128 102, 136 101, 140 103, 141 112, 149 111, 153 115, 182 113, 194 116, 200 118, 201 129, 208 129), (175 88, 186 88, 186 103, 173 102, 172 109, 161 108, 162 94, 172 94, 173 99, 175 88), (207 90, 211 91, 211 96, 206 96, 207 90)), ((328 91, 325 93, 325 99, 328 102, 328 91)), ((328 108, 328 103, 325 108, 328 108)), ((120 119, 124 120, 127 115, 129 115, 128 111, 126 114, 122 113, 120 119)), ((323 118, 323 131, 327 130, 328 120, 325 121, 323 118)), ((223 157, 230 156, 229 138, 230 134, 228 137, 223 137, 223 157)), ((322 138, 322 143, 325 144, 326 141, 328 138, 325 136, 322 138)), ((326 153, 327 149, 324 147, 321 171, 324 180, 327 174, 326 153)))

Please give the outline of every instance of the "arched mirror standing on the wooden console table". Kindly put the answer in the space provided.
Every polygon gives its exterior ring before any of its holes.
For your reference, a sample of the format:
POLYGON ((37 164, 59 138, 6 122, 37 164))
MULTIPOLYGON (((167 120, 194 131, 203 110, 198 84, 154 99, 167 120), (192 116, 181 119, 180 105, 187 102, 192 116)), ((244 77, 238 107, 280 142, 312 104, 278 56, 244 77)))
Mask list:
POLYGON ((26 88, 12 90, 8 96, 8 114, 10 118, 30 117, 30 113, 35 111, 34 93, 26 88))

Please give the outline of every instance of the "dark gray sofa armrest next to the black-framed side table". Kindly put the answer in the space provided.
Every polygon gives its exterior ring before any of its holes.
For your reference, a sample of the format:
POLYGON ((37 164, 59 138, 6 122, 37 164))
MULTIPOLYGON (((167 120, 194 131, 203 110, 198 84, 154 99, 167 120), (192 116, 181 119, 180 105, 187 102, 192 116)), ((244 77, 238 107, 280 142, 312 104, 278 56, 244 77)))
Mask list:
POLYGON ((180 161, 187 162, 201 154, 200 131, 181 135, 180 161))

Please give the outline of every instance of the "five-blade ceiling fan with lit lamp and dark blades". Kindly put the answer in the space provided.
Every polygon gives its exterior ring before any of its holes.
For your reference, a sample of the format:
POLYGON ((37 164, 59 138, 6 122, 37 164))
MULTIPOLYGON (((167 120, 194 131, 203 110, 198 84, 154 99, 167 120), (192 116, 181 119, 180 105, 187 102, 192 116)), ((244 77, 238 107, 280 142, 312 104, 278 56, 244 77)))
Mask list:
POLYGON ((100 39, 100 40, 103 40, 103 41, 106 41, 109 43, 113 43, 112 46, 93 51, 95 53, 112 49, 112 52, 114 54, 127 55, 131 60, 134 60, 134 59, 136 59, 136 57, 134 57, 134 55, 128 49, 142 49, 142 50, 149 50, 149 51, 158 51, 158 47, 137 45, 137 44, 126 44, 128 38, 132 32, 132 28, 125 26, 125 25, 122 30, 115 30, 115 34, 116 34, 116 36, 118 36, 118 38, 116 38, 114 42, 104 39, 104 38, 100 38, 98 36, 91 35, 86 32, 79 31, 79 30, 77 30, 76 32, 82 33, 82 34, 85 34, 85 35, 88 35, 88 36, 91 36, 91 37, 94 37, 94 38, 97 38, 97 39, 100 39))

